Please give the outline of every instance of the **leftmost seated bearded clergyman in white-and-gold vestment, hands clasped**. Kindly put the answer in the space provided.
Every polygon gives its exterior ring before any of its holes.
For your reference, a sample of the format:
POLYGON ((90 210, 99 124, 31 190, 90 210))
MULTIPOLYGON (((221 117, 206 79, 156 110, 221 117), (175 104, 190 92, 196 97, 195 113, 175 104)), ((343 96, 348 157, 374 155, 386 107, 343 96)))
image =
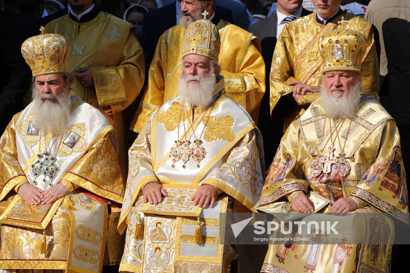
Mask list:
POLYGON ((0 138, 0 271, 99 273, 109 205, 124 194, 116 134, 73 96, 64 36, 31 37, 21 52, 33 101, 0 138))

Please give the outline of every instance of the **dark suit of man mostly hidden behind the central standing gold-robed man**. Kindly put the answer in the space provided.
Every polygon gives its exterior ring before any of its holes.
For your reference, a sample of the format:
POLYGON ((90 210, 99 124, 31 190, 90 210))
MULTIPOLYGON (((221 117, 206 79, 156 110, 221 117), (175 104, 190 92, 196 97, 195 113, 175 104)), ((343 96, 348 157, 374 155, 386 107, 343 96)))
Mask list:
MULTIPOLYGON (((142 24, 142 37, 141 45, 145 53, 145 80, 148 80, 148 71, 151 65, 151 61, 154 57, 155 48, 159 37, 169 28, 177 25, 177 5, 181 5, 180 2, 173 2, 171 5, 147 12, 144 16, 144 22, 142 24)), ((229 23, 233 23, 232 13, 229 9, 221 6, 216 6, 214 9, 215 18, 218 18, 217 22, 212 20, 212 23, 217 25, 219 20, 225 20, 229 23)), ((215 19, 216 20, 216 19, 215 19)))

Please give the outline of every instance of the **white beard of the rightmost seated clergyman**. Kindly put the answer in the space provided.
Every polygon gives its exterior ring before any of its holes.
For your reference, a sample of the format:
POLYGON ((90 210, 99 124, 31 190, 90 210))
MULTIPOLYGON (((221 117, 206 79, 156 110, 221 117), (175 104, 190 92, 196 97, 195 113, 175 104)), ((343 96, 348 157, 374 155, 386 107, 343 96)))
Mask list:
MULTIPOLYGON (((339 89, 344 90, 340 86, 339 89)), ((336 89, 332 86, 330 91, 336 89)), ((329 117, 333 118, 353 118, 355 111, 360 104, 360 93, 362 92, 362 83, 360 80, 353 86, 350 93, 346 96, 346 93, 342 93, 339 97, 333 97, 331 92, 326 92, 324 84, 320 91, 320 100, 325 113, 329 117)))

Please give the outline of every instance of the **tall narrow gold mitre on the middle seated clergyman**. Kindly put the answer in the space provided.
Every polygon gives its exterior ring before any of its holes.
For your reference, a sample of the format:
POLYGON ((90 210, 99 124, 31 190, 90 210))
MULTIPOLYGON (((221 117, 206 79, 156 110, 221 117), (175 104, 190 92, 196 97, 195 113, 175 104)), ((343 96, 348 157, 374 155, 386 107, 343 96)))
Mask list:
POLYGON ((189 25, 185 32, 182 58, 189 54, 197 54, 210 58, 218 63, 221 40, 216 26, 209 20, 197 20, 189 25))

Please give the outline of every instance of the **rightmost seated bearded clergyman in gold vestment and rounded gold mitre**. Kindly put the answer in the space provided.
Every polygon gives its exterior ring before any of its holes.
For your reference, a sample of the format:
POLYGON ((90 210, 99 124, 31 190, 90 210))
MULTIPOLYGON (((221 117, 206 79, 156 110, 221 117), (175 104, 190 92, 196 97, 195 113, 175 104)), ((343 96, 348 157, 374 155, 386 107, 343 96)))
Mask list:
POLYGON ((289 214, 312 213, 309 190, 330 202, 330 212, 365 218, 366 228, 350 233, 359 236, 356 243, 350 235, 326 242, 329 233, 315 231, 308 244, 285 244, 287 252, 271 244, 261 272, 389 272, 394 222, 409 223, 408 191, 396 123, 375 92, 361 93, 366 45, 360 32, 347 29, 325 33, 319 41, 320 98, 287 128, 274 158, 285 167, 280 175, 268 175, 259 206, 263 210, 286 197, 289 214), (329 46, 337 40, 355 50, 339 54, 329 46))

